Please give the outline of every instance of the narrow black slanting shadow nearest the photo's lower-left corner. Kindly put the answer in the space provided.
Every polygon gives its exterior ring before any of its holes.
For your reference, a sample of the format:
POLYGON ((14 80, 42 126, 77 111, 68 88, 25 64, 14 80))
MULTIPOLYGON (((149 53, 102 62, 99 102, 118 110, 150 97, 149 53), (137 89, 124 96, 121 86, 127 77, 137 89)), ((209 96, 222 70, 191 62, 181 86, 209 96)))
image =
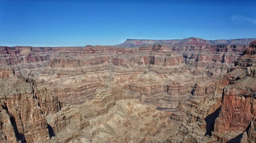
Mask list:
POLYGON ((10 121, 11 121, 11 125, 12 125, 12 127, 13 127, 13 131, 14 131, 16 140, 20 140, 21 143, 26 143, 25 136, 24 136, 22 133, 19 132, 18 127, 17 127, 17 124, 16 124, 16 120, 15 120, 15 118, 13 117, 13 115, 9 112, 9 110, 8 110, 7 107, 2 106, 2 108, 3 108, 4 110, 6 110, 7 114, 9 115, 9 118, 10 118, 10 121))

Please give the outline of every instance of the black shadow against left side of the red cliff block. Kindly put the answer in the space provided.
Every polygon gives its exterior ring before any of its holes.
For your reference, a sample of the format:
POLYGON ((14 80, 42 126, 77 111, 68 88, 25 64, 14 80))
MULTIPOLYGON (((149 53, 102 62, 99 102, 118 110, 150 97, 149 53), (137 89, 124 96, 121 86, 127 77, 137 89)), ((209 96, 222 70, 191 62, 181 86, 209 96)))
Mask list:
POLYGON ((206 118, 204 118, 204 121, 206 122, 206 133, 204 136, 211 136, 211 131, 214 129, 214 122, 217 117, 219 117, 220 113, 220 107, 216 109, 213 113, 209 114, 206 118))

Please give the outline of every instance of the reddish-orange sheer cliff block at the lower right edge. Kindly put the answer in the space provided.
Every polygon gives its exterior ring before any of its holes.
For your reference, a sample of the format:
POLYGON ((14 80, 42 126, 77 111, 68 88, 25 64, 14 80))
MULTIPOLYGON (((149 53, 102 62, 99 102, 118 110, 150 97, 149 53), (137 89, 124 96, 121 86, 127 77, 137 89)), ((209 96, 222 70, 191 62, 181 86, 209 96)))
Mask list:
POLYGON ((222 108, 214 126, 216 134, 230 131, 240 134, 247 129, 256 115, 255 89, 256 79, 252 77, 245 77, 225 87, 222 108))

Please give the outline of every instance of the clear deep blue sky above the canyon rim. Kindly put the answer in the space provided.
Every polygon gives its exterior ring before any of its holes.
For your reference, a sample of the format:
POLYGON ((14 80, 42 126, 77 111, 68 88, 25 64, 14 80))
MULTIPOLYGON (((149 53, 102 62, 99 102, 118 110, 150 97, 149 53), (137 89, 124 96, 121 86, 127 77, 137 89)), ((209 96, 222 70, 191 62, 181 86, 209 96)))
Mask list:
POLYGON ((256 38, 256 0, 0 0, 0 45, 256 38))

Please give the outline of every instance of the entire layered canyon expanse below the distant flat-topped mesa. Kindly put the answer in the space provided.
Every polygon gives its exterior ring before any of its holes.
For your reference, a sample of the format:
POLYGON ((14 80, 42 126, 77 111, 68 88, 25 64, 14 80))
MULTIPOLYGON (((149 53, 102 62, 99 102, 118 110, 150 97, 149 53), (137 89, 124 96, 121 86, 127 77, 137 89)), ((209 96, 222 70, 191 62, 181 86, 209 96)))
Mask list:
POLYGON ((0 142, 254 143, 255 49, 0 46, 0 142))

